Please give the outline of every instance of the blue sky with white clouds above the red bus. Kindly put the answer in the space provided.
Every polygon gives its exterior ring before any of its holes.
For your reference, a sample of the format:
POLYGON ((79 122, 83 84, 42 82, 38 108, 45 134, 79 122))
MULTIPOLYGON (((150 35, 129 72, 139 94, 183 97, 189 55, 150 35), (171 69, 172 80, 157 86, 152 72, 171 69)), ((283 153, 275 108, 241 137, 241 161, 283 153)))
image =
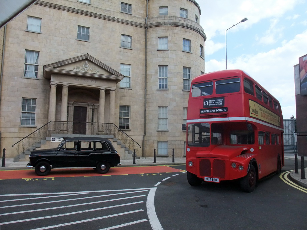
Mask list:
POLYGON ((227 30, 227 69, 246 71, 280 102, 284 119, 296 117, 293 66, 307 54, 307 0, 196 1, 205 73, 226 69, 227 30))

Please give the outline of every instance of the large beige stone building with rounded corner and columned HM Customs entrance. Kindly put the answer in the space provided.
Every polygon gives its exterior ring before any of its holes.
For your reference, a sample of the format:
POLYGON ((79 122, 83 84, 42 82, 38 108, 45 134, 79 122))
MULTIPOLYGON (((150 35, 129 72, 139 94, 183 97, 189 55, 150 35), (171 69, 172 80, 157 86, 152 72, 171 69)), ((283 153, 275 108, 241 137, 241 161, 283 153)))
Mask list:
POLYGON ((20 13, 0 29, 6 157, 85 135, 113 140, 122 159, 183 157, 200 14, 195 0, 39 0, 20 13))

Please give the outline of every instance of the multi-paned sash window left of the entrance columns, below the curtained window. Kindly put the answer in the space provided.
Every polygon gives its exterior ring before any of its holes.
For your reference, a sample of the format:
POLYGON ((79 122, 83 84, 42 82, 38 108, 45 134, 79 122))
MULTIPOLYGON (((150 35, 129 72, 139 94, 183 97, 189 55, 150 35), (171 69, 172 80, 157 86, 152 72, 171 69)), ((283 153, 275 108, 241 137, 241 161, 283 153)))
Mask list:
POLYGON ((35 125, 36 99, 22 98, 21 125, 35 125))

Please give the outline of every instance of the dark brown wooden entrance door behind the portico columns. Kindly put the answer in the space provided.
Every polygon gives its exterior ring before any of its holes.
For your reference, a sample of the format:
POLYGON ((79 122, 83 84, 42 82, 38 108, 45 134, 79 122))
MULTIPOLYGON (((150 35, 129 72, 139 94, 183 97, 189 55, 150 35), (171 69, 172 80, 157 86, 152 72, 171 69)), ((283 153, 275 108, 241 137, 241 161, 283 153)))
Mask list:
POLYGON ((86 134, 87 107, 74 106, 73 134, 86 134))

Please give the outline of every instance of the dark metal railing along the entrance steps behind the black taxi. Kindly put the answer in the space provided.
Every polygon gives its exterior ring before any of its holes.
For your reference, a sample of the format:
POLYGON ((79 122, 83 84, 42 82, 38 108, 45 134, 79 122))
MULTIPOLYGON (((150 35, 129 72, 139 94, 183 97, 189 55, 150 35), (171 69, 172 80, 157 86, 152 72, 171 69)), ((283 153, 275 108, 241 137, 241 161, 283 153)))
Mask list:
POLYGON ((113 123, 98 123, 98 122, 73 122, 73 121, 49 121, 47 124, 41 126, 28 136, 22 138, 12 145, 17 144, 18 155, 23 153, 30 147, 35 147, 37 143, 47 136, 52 134, 63 134, 69 136, 72 134, 81 135, 113 135, 118 141, 121 141, 126 148, 131 151, 141 148, 141 145, 127 135, 123 130, 113 123))

